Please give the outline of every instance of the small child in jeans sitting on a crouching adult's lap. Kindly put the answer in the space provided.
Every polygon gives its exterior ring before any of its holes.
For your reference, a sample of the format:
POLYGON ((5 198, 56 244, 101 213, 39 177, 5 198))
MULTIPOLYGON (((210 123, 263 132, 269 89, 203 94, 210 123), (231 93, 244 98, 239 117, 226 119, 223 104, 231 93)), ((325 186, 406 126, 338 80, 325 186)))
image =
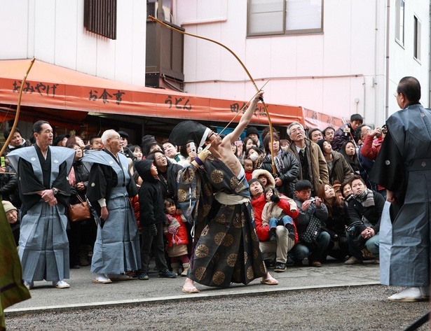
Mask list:
POLYGON ((269 225, 269 240, 275 241, 275 229, 278 225, 283 225, 289 232, 291 239, 298 239, 293 218, 298 216, 298 207, 294 200, 289 197, 281 196, 275 188, 266 188, 264 191, 266 204, 262 211, 262 225, 269 225))

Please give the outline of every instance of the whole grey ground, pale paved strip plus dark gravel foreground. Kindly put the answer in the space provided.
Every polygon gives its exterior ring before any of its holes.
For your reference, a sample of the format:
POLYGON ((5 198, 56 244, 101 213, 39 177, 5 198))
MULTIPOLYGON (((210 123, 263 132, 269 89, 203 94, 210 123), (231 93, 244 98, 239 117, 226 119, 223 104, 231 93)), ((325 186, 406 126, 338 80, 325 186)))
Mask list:
MULTIPOLYGON (((6 309, 8 330, 404 330, 429 311, 427 302, 386 298, 378 265, 291 267, 278 286, 181 292, 184 278, 95 284, 89 267, 71 270, 71 288, 37 282, 32 299, 6 309)), ((428 330, 428 324, 420 330, 428 330)))

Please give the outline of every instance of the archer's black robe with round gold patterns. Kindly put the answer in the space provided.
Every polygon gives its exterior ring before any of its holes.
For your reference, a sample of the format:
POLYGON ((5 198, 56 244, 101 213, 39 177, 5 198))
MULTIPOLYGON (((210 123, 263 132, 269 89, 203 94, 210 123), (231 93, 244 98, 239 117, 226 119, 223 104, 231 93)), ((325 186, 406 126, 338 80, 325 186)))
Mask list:
POLYGON ((239 180, 221 160, 208 157, 205 171, 196 171, 190 164, 179 171, 178 181, 178 202, 186 219, 191 223, 206 221, 187 276, 217 287, 247 284, 265 276, 245 177, 239 180), (220 192, 240 202, 221 204, 216 198, 220 192))

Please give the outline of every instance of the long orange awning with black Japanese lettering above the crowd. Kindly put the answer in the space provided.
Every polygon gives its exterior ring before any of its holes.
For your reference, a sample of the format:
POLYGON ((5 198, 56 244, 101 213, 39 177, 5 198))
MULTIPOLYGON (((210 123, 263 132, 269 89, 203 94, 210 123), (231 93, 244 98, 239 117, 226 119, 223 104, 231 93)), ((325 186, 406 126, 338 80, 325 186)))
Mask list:
MULTIPOLYGON (((18 103, 29 59, 0 61, 0 106, 18 103)), ((22 106, 57 111, 138 115, 229 122, 244 101, 214 99, 172 90, 140 87, 80 73, 36 60, 25 83, 22 106)), ((268 104, 273 125, 303 120, 303 108, 268 104)), ((61 116, 60 112, 60 116, 61 116)), ((70 115, 70 113, 69 113, 70 115)), ((64 116, 61 116, 64 117, 64 116)), ((240 116, 236 119, 240 119, 240 116)), ((268 124, 264 109, 256 109, 252 123, 268 124)))

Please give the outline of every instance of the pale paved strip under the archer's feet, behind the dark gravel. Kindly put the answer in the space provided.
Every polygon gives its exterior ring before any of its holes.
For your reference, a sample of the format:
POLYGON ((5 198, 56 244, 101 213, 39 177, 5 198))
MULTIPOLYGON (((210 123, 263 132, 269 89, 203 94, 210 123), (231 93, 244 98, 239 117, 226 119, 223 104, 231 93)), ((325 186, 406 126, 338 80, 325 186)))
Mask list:
POLYGON ((182 300, 204 300, 212 297, 243 297, 250 295, 268 295, 295 290, 322 288, 349 288, 352 286, 370 286, 379 284, 379 266, 372 261, 362 265, 343 265, 329 260, 322 267, 288 267, 286 272, 271 274, 279 281, 278 286, 261 285, 254 280, 247 286, 232 285, 229 288, 209 288, 196 284, 200 293, 182 293, 184 277, 160 279, 157 272, 150 272, 149 281, 116 281, 111 284, 93 283, 90 267, 71 269, 71 278, 67 280, 71 288, 53 288, 50 282, 34 283, 30 291, 32 298, 15 304, 5 310, 6 316, 46 311, 67 311, 96 307, 116 307, 142 303, 175 302, 182 300))

